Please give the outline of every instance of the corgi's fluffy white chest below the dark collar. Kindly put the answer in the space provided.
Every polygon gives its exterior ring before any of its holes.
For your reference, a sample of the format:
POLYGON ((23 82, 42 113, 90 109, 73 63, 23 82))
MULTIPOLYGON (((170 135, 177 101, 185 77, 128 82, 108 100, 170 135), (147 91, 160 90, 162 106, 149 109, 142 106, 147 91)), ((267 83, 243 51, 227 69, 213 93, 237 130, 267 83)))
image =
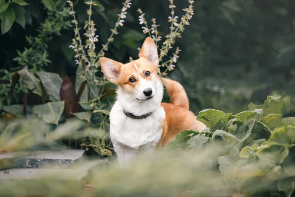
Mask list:
POLYGON ((116 102, 110 113, 112 141, 118 141, 133 149, 154 147, 162 136, 164 118, 165 111, 159 106, 147 118, 132 119, 123 113, 122 107, 116 102))

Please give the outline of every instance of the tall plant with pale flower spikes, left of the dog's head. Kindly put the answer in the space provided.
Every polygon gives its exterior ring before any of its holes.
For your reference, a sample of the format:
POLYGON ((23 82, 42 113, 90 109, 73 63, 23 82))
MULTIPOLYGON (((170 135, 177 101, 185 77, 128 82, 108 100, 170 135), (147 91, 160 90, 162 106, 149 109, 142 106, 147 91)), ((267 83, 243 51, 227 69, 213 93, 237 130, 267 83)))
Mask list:
POLYGON ((81 145, 86 146, 86 149, 93 148, 102 156, 111 156, 112 152, 110 150, 112 148, 108 142, 106 131, 108 127, 107 117, 112 101, 107 100, 107 106, 103 104, 101 99, 106 94, 108 81, 104 77, 97 77, 96 74, 101 72, 99 58, 105 56, 105 51, 108 51, 110 43, 114 41, 114 36, 118 34, 118 28, 124 25, 127 9, 132 5, 131 0, 123 2, 121 12, 118 14, 118 20, 114 28, 111 29, 112 33, 107 39, 107 43, 101 45, 99 51, 97 50, 99 35, 96 34, 95 23, 91 20, 92 8, 97 5, 96 2, 93 0, 85 1, 89 5, 89 9, 87 10, 88 20, 85 22, 83 29, 78 27, 73 1, 68 0, 67 2, 71 8, 69 13, 73 17, 72 23, 74 25, 74 38, 72 39, 72 45, 69 47, 75 51, 75 62, 78 65, 75 83, 76 92, 80 95, 78 96, 79 102, 84 110, 91 110, 91 120, 94 121, 90 122, 92 126, 96 127, 96 130, 91 129, 93 135, 83 139, 81 145), (82 30, 86 39, 82 39, 82 30), (83 40, 85 40, 84 43, 83 40), (80 91, 83 93, 80 93, 80 91), (97 137, 98 133, 100 133, 100 137, 97 137), (85 143, 86 141, 89 141, 89 143, 85 143))

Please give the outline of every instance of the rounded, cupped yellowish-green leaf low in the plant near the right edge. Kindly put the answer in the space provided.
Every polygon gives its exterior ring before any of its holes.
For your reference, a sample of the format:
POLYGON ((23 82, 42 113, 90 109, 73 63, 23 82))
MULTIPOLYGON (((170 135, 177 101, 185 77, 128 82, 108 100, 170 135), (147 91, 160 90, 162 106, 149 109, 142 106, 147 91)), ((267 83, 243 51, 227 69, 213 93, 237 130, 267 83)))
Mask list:
POLYGON ((265 169, 270 169, 276 165, 282 164, 288 154, 289 151, 286 146, 275 143, 262 145, 256 152, 257 157, 261 161, 260 164, 265 169))

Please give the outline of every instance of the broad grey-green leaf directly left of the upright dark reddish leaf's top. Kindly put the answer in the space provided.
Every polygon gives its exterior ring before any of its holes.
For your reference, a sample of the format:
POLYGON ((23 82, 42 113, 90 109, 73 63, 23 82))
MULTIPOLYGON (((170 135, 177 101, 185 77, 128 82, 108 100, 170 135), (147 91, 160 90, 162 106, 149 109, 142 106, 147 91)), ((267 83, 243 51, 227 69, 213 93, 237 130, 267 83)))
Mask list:
POLYGON ((52 101, 60 100, 59 90, 62 83, 62 79, 58 74, 52 72, 39 71, 36 73, 41 80, 46 94, 49 95, 49 99, 52 101))

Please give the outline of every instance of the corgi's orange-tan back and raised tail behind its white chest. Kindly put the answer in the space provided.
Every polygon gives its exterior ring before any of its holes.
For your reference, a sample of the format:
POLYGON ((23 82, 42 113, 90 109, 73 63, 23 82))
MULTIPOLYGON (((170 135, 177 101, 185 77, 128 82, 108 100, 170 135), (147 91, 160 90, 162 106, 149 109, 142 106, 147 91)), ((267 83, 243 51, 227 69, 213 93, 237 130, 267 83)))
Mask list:
POLYGON ((189 111, 189 101, 182 85, 167 78, 162 78, 162 81, 170 97, 170 103, 161 103, 166 117, 158 147, 165 147, 181 131, 202 131, 206 128, 206 125, 197 121, 195 114, 189 111))

